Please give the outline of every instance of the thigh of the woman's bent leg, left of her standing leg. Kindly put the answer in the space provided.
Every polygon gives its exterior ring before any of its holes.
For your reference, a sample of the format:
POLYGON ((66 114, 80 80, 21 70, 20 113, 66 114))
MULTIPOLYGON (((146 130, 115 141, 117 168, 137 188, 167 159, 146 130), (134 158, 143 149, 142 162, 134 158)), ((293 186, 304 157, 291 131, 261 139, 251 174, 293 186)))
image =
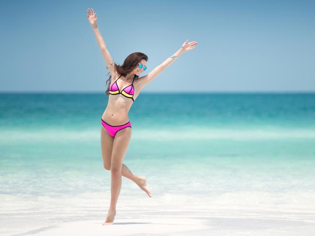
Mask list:
POLYGON ((101 125, 101 150, 103 165, 106 170, 110 170, 111 152, 114 137, 112 137, 104 126, 101 125))

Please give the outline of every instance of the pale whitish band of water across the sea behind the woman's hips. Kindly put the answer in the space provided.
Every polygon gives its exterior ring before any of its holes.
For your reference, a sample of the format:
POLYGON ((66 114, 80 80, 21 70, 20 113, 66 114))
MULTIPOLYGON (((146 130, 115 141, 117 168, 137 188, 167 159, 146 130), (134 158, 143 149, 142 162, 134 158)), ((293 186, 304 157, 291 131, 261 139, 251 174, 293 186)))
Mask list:
MULTIPOLYGON (((98 141, 100 130, 2 130, 0 142, 67 142, 98 141)), ((133 129, 133 140, 281 140, 281 139, 315 139, 315 129, 306 128, 147 128, 133 129)))

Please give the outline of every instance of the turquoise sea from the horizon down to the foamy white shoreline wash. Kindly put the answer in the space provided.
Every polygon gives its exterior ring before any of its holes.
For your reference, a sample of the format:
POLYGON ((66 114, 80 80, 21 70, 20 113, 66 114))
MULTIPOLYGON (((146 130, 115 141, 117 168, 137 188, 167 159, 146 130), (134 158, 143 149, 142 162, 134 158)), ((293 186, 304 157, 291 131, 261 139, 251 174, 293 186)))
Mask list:
MULTIPOLYGON (((105 94, 0 94, 2 233, 105 219, 107 101, 105 94)), ((154 197, 123 177, 120 217, 164 208, 315 209, 314 93, 141 94, 129 119, 124 163, 146 176, 154 197)))

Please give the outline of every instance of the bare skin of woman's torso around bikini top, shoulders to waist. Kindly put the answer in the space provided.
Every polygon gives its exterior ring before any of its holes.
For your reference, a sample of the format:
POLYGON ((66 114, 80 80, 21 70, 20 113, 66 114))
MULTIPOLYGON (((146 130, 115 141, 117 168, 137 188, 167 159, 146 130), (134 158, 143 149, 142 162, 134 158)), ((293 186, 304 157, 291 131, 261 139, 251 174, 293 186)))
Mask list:
MULTIPOLYGON (((116 78, 112 78, 110 81, 110 84, 112 84, 119 76, 116 74, 116 78)), ((122 78, 122 77, 121 77, 122 78)), ((120 78, 120 79, 121 79, 120 78)), ((126 79, 124 78, 126 81, 126 79)), ((123 80, 119 81, 119 87, 125 88, 127 85, 129 85, 132 82, 130 80, 129 82, 124 83, 123 80)), ((135 80, 133 82, 133 86, 135 89, 135 94, 133 95, 133 99, 135 100, 139 94, 139 90, 137 89, 138 81, 135 80)), ((107 107, 102 115, 102 119, 105 120, 107 123, 109 123, 112 126, 119 126, 121 124, 126 124, 129 121, 128 112, 132 106, 132 99, 125 97, 122 94, 113 95, 109 94, 108 104, 107 107)))

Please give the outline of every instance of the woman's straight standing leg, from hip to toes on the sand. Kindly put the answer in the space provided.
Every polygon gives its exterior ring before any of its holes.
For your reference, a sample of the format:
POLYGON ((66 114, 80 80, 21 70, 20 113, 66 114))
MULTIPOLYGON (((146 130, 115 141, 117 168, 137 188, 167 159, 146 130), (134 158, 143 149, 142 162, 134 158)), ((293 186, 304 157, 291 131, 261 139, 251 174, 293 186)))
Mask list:
POLYGON ((103 224, 113 224, 122 185, 122 165, 131 138, 131 127, 119 130, 114 138, 110 163, 110 209, 103 224))

